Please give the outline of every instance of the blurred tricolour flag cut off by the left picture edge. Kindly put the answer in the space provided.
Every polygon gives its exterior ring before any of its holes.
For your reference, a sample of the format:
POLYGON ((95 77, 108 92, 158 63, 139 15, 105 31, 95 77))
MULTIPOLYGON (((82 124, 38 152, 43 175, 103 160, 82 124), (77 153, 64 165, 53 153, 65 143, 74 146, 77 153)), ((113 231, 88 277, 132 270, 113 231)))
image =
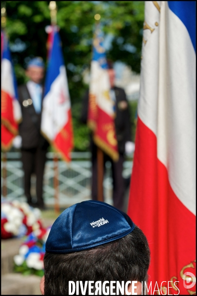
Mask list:
POLYGON ((1 148, 4 151, 11 148, 21 119, 8 41, 4 32, 1 32, 1 148))

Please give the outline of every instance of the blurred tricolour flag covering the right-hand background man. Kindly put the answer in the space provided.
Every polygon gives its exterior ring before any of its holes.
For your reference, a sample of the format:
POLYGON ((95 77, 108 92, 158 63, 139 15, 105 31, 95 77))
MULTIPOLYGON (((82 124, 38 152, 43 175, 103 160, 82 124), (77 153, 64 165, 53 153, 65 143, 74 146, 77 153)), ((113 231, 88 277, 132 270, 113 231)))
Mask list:
POLYGON ((93 39, 87 125, 93 130, 95 144, 116 161, 118 142, 114 123, 114 101, 110 96, 107 69, 102 32, 97 25, 93 39))

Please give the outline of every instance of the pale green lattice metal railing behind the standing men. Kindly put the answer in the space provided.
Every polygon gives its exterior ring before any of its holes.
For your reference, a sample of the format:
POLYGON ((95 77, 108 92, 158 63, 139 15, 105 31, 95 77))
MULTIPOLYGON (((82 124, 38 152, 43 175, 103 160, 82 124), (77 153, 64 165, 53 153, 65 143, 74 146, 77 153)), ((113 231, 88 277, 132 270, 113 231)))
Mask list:
MULTIPOLYGON (((54 204, 54 162, 53 153, 47 153, 47 161, 44 170, 43 197, 46 205, 54 204)), ((18 199, 26 201, 23 189, 23 169, 20 160, 20 152, 8 152, 6 154, 6 193, 7 200, 18 199)), ((132 159, 126 160, 123 164, 123 177, 129 178, 132 170, 132 159)), ((2 196, 2 168, 1 161, 1 196, 2 196)), ((59 159, 59 204, 62 207, 69 207, 75 203, 91 199, 91 153, 73 152, 72 161, 68 164, 59 159)), ((32 196, 36 196, 36 176, 32 175, 32 196)), ((111 163, 106 163, 104 176, 104 196, 109 204, 112 202, 112 174, 111 163)))

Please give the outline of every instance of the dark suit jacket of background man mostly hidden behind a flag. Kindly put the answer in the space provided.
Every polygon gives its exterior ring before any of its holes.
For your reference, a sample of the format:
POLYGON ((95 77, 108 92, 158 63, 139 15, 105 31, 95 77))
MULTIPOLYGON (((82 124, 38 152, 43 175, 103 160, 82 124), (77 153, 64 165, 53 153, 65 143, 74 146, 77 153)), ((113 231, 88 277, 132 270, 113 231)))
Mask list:
MULTIPOLYGON (((129 106, 126 99, 124 90, 120 87, 114 87, 116 94, 116 118, 115 128, 118 140, 118 152, 124 153, 125 142, 131 141, 131 124, 129 115, 129 106)), ((81 113, 81 121, 87 123, 87 112, 88 112, 88 96, 89 90, 86 91, 83 97, 83 106, 81 113)))

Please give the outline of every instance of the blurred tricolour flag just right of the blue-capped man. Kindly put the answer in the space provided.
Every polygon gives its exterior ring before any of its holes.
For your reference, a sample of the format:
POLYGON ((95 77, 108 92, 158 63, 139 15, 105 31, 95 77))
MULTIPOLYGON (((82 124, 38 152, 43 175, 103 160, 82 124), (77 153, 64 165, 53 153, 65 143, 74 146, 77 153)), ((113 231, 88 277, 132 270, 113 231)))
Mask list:
POLYGON ((52 40, 46 72, 41 132, 60 152, 62 158, 70 161, 70 153, 73 148, 71 102, 61 40, 55 28, 52 40))

